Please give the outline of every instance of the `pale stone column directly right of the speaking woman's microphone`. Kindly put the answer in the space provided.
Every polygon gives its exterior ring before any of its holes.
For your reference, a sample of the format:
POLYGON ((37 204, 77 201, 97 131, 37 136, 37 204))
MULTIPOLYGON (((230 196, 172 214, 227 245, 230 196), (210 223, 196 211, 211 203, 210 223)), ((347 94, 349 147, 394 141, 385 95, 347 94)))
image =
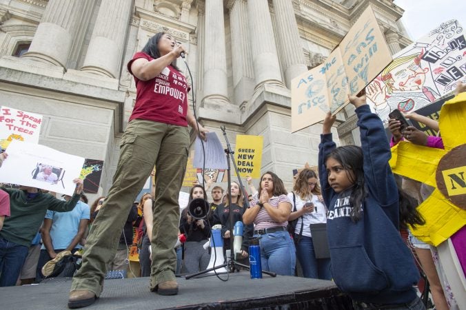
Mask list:
POLYGON ((205 0, 204 101, 228 101, 223 0, 205 0))

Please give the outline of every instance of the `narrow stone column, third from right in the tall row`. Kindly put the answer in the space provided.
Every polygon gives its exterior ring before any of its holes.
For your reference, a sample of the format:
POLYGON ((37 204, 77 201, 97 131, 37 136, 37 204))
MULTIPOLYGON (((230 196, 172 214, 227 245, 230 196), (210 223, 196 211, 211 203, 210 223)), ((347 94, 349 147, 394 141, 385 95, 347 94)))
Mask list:
POLYGON ((241 105, 254 92, 247 4, 245 0, 230 0, 227 8, 230 10, 234 99, 236 105, 241 105))

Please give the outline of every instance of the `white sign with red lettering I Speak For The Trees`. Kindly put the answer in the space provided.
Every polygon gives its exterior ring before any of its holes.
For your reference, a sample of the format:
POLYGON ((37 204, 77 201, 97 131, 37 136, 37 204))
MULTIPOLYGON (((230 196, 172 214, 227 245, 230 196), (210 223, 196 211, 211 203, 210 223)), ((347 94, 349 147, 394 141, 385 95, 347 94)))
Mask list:
POLYGON ((0 146, 6 149, 12 140, 39 143, 42 115, 12 107, 0 107, 0 146))

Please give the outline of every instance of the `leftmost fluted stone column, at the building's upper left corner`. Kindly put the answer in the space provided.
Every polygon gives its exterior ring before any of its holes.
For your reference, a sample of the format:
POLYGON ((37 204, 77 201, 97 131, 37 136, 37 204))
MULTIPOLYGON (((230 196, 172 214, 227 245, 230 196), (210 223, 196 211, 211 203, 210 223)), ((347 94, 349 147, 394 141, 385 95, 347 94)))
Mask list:
POLYGON ((85 4, 83 0, 48 1, 29 51, 23 57, 65 68, 85 4))

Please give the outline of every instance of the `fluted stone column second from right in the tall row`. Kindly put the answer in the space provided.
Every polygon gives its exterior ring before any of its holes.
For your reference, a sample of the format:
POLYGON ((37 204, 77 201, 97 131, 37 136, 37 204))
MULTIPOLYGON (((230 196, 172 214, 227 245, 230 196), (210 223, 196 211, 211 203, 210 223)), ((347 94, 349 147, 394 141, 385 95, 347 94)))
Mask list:
POLYGON ((263 83, 283 86, 267 0, 247 1, 256 87, 263 83))

